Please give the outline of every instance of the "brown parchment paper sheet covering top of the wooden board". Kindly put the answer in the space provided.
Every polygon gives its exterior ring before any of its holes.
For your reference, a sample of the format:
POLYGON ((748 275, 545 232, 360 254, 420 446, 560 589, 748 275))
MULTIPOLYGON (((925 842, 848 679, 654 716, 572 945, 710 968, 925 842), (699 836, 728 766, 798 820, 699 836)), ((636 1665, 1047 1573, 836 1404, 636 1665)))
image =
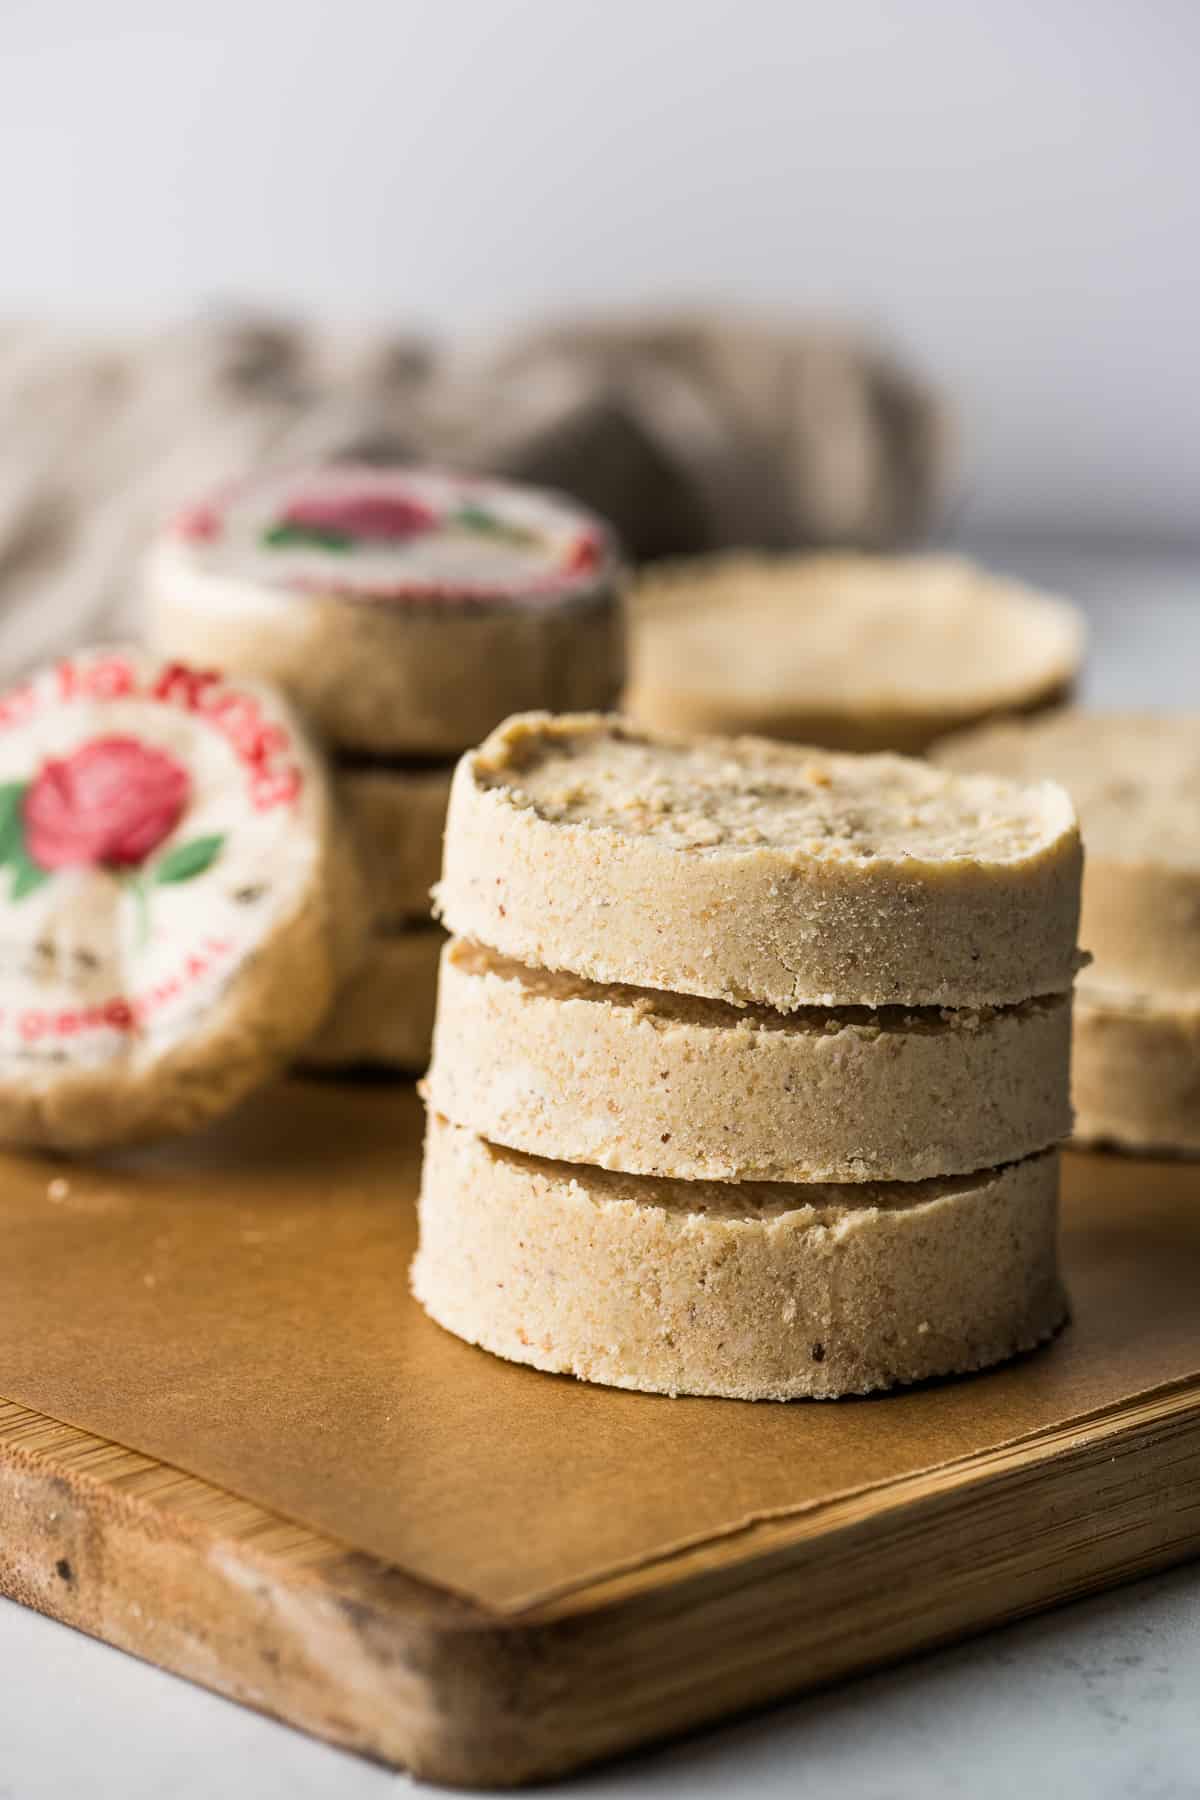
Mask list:
POLYGON ((1200 1370, 1200 1168, 1067 1161, 1074 1323, 873 1400, 588 1388, 408 1298, 410 1089, 286 1084, 175 1148, 0 1157, 0 1395, 502 1611, 1200 1370))

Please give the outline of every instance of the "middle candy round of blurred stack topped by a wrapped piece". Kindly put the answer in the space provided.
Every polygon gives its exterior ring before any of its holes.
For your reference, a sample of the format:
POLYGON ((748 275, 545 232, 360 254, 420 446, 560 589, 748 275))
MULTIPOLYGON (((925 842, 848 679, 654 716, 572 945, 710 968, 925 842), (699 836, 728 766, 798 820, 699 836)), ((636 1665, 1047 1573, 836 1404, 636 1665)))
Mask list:
POLYGON ((430 889, 441 875, 453 769, 335 769, 335 796, 363 875, 378 929, 426 918, 430 889))

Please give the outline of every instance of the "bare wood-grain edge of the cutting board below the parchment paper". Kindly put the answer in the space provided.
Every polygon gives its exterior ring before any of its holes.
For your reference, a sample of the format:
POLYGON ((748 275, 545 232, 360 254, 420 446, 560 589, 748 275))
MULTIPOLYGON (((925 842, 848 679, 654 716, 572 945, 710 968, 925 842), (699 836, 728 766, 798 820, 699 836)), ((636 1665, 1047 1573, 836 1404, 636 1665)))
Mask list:
POLYGON ((502 1618, 0 1402, 0 1593, 425 1780, 511 1787, 1200 1552, 1200 1393, 885 1525, 792 1525, 502 1618))

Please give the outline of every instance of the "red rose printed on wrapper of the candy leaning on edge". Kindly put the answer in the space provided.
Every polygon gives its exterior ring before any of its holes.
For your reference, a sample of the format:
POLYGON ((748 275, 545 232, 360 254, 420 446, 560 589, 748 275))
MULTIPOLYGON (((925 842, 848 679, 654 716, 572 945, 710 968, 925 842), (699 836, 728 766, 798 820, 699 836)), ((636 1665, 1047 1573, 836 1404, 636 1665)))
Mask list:
POLYGON ((169 837, 191 792, 187 769, 137 738, 95 738, 31 781, 25 848, 40 869, 133 868, 169 837))

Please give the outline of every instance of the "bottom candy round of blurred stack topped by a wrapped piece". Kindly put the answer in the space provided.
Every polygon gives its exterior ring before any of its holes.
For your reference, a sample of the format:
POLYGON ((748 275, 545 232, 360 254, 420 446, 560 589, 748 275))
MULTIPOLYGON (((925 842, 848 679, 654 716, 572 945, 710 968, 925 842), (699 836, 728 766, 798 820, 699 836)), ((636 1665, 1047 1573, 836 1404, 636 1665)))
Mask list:
POLYGON ((396 1069, 417 1075, 430 1060, 437 959, 446 934, 435 925, 376 932, 358 974, 300 1051, 304 1069, 396 1069))

